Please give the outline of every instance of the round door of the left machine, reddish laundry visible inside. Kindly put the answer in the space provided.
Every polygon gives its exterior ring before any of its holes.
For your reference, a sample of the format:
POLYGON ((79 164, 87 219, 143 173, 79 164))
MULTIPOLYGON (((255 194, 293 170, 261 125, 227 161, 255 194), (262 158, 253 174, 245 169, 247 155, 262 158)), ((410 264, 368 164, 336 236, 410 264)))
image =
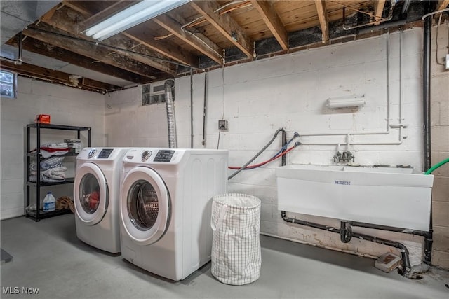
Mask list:
POLYGON ((99 223, 109 205, 109 189, 100 167, 86 162, 76 170, 74 182, 76 216, 87 225, 99 223))

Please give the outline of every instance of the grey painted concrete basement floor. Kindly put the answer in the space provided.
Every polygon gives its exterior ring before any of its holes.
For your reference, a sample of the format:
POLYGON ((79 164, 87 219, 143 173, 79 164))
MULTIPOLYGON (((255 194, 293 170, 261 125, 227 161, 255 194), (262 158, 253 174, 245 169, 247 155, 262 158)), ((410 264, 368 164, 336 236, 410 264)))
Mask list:
POLYGON ((261 236, 260 279, 228 286, 210 274, 210 263, 173 282, 94 249, 76 238, 73 214, 0 225, 1 248, 13 256, 0 267, 1 298, 449 298, 447 271, 431 268, 420 280, 406 279, 377 270, 369 258, 272 237, 261 236), (7 287, 19 294, 6 294, 7 287))

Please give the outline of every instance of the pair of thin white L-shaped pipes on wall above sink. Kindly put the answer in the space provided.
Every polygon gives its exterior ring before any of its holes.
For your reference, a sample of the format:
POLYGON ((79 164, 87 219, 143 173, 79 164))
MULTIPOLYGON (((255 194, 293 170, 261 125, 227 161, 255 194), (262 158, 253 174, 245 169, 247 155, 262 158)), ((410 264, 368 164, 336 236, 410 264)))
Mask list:
MULTIPOLYGON (((402 34, 402 32, 400 33, 402 34)), ((399 36, 401 38, 401 35, 399 36)), ((391 141, 391 142, 353 142, 352 145, 400 145, 402 144, 403 141, 403 137, 402 137, 402 128, 403 127, 407 127, 408 125, 403 124, 402 123, 402 99, 401 99, 401 86, 402 86, 402 78, 401 78, 401 71, 402 71, 402 66, 401 66, 401 60, 402 60, 402 49, 401 49, 401 45, 399 45, 399 62, 400 62, 400 66, 399 66, 399 88, 400 88, 400 95, 399 95, 399 124, 398 125, 391 125, 390 124, 390 113, 391 113, 391 101, 390 101, 390 92, 389 92, 389 34, 387 34, 386 36, 386 53, 387 53, 387 59, 386 59, 386 67, 387 67, 387 130, 386 131, 379 131, 379 132, 363 132, 363 133, 358 133, 358 132, 352 132, 352 133, 347 133, 347 132, 337 132, 337 133, 309 133, 309 134, 301 134, 302 137, 319 137, 319 136, 347 136, 349 134, 352 135, 388 135, 390 134, 390 128, 397 128, 399 129, 399 141, 391 141)), ((400 40, 401 43, 402 39, 400 40)), ((336 143, 303 143, 301 142, 302 145, 305 146, 335 146, 336 143)), ((349 139, 347 139, 347 143, 339 143, 342 145, 347 145, 349 144, 349 139)))

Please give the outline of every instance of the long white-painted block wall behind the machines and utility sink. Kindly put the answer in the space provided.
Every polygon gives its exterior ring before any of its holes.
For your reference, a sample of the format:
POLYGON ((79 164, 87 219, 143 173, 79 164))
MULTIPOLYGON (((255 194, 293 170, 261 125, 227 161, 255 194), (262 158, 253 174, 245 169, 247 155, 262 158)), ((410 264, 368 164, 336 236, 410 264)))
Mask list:
MULTIPOLYGON (((300 134, 339 134, 330 137, 301 137, 304 145, 288 155, 288 163, 332 164, 337 144, 350 150, 356 162, 368 165, 410 164, 422 170, 422 29, 342 43, 299 53, 237 64, 208 73, 206 146, 203 139, 204 74, 193 77, 193 147, 229 149, 229 163, 241 166, 272 138, 279 127, 300 134), (388 48, 387 48, 388 47, 388 48), (387 52, 389 56, 387 74, 387 52), (400 67, 399 53, 402 64, 400 67), (401 83, 401 84, 400 84, 401 83), (328 99, 364 97, 358 110, 333 111, 328 99), (389 122, 408 127, 387 134, 389 122), (401 97, 400 97, 401 96, 401 97), (401 116, 399 102, 402 102, 401 116), (218 120, 229 128, 218 130, 218 120), (384 134, 365 134, 383 132, 384 134), (401 144, 397 144, 401 141, 401 144), (324 145, 316 145, 324 144, 324 145)), ((142 107, 140 90, 114 92, 106 100, 106 133, 110 146, 167 146, 165 104, 142 107)), ((191 146, 190 77, 175 80, 175 113, 179 148, 191 146)), ((267 160, 281 146, 279 137, 255 162, 267 160)), ((353 239, 348 244, 332 233, 288 225, 277 209, 275 168, 279 161, 241 172, 229 181, 229 192, 255 195, 262 200, 261 232, 295 242, 380 256, 386 246, 353 239)), ((229 170, 232 174, 232 170, 229 170)), ((394 199, 392 199, 394 200, 394 199)), ((330 218, 289 214, 327 225, 340 225, 330 218)), ((354 228, 377 237, 407 244, 412 265, 422 259, 422 237, 354 228)))

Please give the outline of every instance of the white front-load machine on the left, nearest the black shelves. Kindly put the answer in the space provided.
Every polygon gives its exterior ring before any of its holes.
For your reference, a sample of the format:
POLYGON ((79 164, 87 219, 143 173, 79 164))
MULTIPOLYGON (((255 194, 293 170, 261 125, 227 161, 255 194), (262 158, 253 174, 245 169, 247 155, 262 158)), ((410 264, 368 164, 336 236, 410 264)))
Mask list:
POLYGON ((110 253, 120 252, 120 179, 128 149, 83 148, 76 157, 76 236, 110 253))

